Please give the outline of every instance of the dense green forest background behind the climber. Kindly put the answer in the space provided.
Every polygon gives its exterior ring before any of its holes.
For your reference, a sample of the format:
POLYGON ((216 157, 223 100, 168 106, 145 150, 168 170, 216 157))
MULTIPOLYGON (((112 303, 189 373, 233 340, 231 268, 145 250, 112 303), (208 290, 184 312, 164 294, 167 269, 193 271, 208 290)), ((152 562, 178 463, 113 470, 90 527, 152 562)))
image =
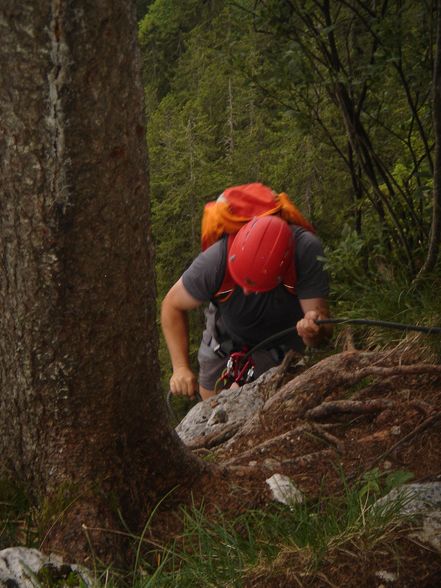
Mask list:
MULTIPOLYGON (((439 323, 436 2, 138 10, 158 299, 200 251, 204 204, 260 181, 317 228, 334 316, 439 323)), ((193 317, 193 362, 201 326, 193 317)), ((362 347, 399 336, 356 334, 362 347)), ((166 386, 163 344, 161 365, 166 386)))

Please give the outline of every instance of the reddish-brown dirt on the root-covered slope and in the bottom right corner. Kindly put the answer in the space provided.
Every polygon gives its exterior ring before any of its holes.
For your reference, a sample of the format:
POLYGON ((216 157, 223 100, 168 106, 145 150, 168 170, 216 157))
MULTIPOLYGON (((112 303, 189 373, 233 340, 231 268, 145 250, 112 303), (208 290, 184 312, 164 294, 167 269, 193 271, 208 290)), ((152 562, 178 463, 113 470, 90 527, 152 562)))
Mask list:
MULTIPOLYGON (((289 368, 273 399, 251 426, 233 439, 196 452, 216 464, 200 484, 206 507, 233 513, 272 501, 265 479, 288 475, 305 496, 342 488, 363 473, 404 470, 413 481, 441 481, 441 366, 403 355, 340 354, 322 368, 289 368), (303 380, 302 380, 303 378, 303 380), (298 384, 296 384, 296 382, 298 384), (281 392, 282 391, 282 392, 281 392), (219 466, 219 467, 217 467, 219 466)), ((297 562, 298 563, 298 562, 297 562)), ((256 576, 248 586, 297 586, 286 562, 278 577, 256 576)), ((342 550, 302 586, 441 586, 441 557, 407 535, 375 553, 342 550), (374 570, 394 568, 398 580, 374 570)))

